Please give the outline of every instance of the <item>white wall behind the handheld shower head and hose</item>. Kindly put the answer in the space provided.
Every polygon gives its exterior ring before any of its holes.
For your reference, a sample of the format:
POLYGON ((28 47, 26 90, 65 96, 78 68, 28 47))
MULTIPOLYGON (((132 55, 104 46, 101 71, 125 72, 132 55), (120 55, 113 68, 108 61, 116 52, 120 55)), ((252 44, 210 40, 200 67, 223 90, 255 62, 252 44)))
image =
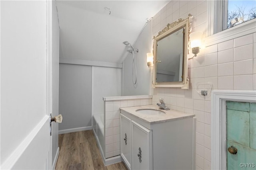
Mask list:
MULTIPOLYGON (((139 49, 136 55, 137 83, 132 82, 133 54, 129 53, 123 63, 122 71, 122 96, 146 95, 150 88, 150 68, 147 66, 147 53, 152 52, 152 20, 144 27, 141 35, 134 43, 134 48, 139 49)), ((134 72, 135 80, 135 72, 134 72)))

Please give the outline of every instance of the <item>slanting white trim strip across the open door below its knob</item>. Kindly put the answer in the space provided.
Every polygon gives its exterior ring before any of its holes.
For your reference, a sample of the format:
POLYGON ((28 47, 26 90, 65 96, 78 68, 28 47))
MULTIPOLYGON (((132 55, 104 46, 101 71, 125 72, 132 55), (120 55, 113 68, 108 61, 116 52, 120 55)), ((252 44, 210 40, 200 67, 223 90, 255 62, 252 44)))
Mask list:
POLYGON ((28 148, 28 145, 33 141, 38 132, 45 124, 49 123, 49 116, 45 115, 36 127, 26 136, 20 145, 8 156, 8 158, 1 164, 1 169, 12 169, 22 153, 28 148))

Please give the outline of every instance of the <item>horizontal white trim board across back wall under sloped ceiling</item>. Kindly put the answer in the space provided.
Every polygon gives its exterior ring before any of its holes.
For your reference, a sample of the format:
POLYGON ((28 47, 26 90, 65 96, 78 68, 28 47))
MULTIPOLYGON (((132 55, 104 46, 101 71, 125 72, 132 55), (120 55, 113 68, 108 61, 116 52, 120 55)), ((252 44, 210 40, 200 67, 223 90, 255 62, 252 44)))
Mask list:
POLYGON ((105 61, 92 61, 92 60, 81 60, 81 59, 68 59, 60 57, 60 63, 62 64, 78 64, 86 66, 100 66, 100 67, 112 67, 112 68, 122 68, 121 63, 111 63, 105 61))

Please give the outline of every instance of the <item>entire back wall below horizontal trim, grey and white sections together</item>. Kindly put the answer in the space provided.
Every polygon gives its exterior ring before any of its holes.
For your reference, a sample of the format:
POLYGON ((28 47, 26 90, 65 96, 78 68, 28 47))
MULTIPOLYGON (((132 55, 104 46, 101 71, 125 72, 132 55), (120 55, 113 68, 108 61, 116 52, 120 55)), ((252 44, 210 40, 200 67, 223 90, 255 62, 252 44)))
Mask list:
POLYGON ((63 121, 59 133, 90 129, 92 115, 104 114, 102 98, 121 96, 121 68, 82 65, 83 62, 88 64, 82 60, 78 61, 81 65, 60 63, 59 112, 63 121))

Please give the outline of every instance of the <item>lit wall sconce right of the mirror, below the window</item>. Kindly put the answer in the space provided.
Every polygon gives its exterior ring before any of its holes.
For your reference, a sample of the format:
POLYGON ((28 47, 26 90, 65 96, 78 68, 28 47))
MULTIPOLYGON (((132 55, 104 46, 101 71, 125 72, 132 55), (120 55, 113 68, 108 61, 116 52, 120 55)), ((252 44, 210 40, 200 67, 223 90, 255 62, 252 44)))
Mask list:
POLYGON ((193 32, 189 35, 190 46, 192 48, 192 53, 194 54, 194 57, 196 57, 196 55, 200 52, 202 34, 202 32, 193 32))

